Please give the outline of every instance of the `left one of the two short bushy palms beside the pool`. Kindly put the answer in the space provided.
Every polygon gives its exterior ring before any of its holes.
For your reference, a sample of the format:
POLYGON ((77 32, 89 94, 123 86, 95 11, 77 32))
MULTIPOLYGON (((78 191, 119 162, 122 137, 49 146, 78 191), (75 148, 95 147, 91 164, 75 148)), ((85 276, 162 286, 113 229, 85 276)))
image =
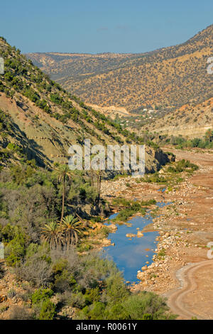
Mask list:
POLYGON ((57 222, 49 222, 45 224, 42 230, 42 239, 50 244, 50 248, 55 248, 58 250, 58 246, 61 246, 61 235, 59 230, 59 225, 57 222))

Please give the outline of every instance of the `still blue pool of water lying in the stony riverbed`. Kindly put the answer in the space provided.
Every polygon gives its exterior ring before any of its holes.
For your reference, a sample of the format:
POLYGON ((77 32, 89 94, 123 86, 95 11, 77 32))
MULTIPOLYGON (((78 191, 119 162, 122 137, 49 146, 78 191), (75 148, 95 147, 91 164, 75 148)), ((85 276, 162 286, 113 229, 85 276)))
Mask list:
MULTIPOLYGON (((157 205, 162 208, 164 205, 170 203, 157 203, 157 205)), ((114 213, 109 217, 109 222, 106 225, 115 223, 111 221, 116 217, 118 213, 114 213)), ((111 239, 111 243, 115 243, 115 246, 104 247, 104 254, 109 259, 113 259, 119 270, 123 271, 124 279, 126 281, 138 282, 137 271, 141 270, 142 266, 152 263, 153 254, 156 248, 156 237, 158 237, 158 232, 143 232, 143 237, 132 237, 129 239, 126 237, 126 233, 137 234, 139 227, 143 230, 146 225, 153 222, 153 217, 151 217, 151 211, 148 210, 147 214, 143 217, 136 216, 133 217, 128 223, 132 223, 132 226, 126 226, 125 224, 116 224, 118 230, 115 233, 109 233, 108 239, 111 239), (146 250, 150 249, 150 250, 146 250)))

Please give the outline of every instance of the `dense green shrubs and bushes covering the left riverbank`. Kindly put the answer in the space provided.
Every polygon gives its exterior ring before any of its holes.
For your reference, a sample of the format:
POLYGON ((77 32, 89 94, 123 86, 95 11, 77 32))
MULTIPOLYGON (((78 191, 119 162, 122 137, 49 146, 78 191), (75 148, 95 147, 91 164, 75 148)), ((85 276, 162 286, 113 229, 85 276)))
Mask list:
MULTIPOLYGON (((60 221, 62 192, 57 174, 31 168, 33 173, 23 173, 21 177, 14 167, 0 173, 0 240, 5 244, 6 264, 13 268, 19 282, 28 282, 23 300, 31 301, 28 306, 14 308, 10 317, 69 318, 63 310, 70 306, 72 318, 76 319, 175 318, 163 298, 145 291, 131 293, 113 262, 90 252, 90 247, 87 254, 77 254, 80 247, 85 251, 89 246, 82 237, 83 229, 89 232, 89 227, 84 227, 73 214, 67 215, 67 205, 70 198, 72 203, 91 198, 87 198, 87 191, 81 199, 80 193, 69 195, 66 183, 66 216, 60 221)), ((79 188, 86 185, 84 182, 73 175, 72 194, 75 183, 79 188)), ((128 210, 128 201, 118 199, 117 203, 126 205, 128 210)), ((154 203, 133 202, 130 208, 142 212, 145 205, 154 203)), ((103 227, 100 232, 104 237, 109 231, 103 227)), ((91 236, 92 233, 91 230, 91 236)), ((16 291, 9 292, 11 297, 15 294, 16 291)))

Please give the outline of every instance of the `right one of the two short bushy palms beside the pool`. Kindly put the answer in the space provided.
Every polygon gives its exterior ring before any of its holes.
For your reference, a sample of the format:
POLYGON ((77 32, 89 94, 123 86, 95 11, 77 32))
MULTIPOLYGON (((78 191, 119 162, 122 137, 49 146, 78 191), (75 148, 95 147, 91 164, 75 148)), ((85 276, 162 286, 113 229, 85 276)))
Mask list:
POLYGON ((67 249, 71 245, 77 244, 78 237, 83 229, 84 227, 80 225, 80 221, 77 220, 77 218, 75 218, 73 215, 68 215, 63 218, 62 222, 60 222, 60 232, 62 237, 65 239, 67 249))

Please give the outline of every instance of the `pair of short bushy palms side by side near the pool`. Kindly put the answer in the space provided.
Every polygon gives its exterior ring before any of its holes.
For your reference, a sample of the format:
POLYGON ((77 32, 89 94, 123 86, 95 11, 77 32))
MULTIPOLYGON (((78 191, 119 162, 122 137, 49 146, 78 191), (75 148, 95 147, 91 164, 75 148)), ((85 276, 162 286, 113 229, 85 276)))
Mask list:
POLYGON ((49 222, 41 229, 43 241, 50 244, 51 249, 70 249, 76 245, 84 227, 73 215, 68 215, 60 222, 49 222))

